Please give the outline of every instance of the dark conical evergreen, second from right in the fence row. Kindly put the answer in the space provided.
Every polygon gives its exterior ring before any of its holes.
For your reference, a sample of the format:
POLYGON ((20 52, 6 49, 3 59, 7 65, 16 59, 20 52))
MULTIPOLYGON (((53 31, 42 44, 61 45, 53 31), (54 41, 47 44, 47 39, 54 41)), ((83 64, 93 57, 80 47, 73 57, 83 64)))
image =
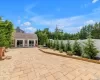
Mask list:
POLYGON ((77 40, 75 40, 75 42, 73 44, 73 53, 78 56, 81 56, 81 54, 82 54, 80 44, 77 42, 77 40))

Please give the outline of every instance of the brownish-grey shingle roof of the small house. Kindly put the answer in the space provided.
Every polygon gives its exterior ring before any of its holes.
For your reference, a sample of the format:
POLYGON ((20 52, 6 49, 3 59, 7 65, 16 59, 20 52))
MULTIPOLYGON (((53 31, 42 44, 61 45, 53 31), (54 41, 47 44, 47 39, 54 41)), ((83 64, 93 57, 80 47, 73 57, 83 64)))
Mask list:
POLYGON ((15 39, 38 39, 36 34, 31 33, 14 33, 15 39))

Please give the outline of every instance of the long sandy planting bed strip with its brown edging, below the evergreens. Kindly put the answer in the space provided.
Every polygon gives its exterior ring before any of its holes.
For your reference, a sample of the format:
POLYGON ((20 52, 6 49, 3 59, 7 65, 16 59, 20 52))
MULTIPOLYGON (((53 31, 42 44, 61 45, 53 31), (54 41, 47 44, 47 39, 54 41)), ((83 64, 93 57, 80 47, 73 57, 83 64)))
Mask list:
POLYGON ((92 60, 92 59, 82 58, 82 57, 75 56, 75 55, 70 56, 70 55, 67 55, 67 53, 65 53, 65 52, 60 53, 57 50, 54 51, 52 49, 44 49, 44 48, 39 48, 39 50, 44 52, 44 53, 51 54, 51 55, 62 56, 62 57, 67 57, 67 58, 72 58, 72 59, 77 59, 77 60, 82 60, 82 61, 100 64, 100 60, 92 60))

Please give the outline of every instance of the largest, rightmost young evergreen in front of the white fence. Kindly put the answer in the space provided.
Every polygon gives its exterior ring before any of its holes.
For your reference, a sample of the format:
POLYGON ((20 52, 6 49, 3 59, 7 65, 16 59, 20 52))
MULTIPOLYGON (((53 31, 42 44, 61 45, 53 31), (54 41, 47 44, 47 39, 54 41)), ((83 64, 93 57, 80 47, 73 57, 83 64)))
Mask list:
POLYGON ((94 59, 99 51, 94 46, 94 41, 91 38, 88 38, 87 42, 84 46, 84 54, 83 57, 87 57, 89 59, 94 59))

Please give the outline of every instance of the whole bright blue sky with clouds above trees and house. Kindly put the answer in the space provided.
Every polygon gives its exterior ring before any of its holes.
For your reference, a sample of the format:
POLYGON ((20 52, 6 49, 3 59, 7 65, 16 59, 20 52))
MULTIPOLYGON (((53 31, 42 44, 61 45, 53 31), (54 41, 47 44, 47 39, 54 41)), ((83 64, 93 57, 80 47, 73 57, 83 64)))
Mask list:
POLYGON ((0 16, 26 32, 56 25, 76 33, 82 26, 100 21, 100 0, 1 0, 0 16))

